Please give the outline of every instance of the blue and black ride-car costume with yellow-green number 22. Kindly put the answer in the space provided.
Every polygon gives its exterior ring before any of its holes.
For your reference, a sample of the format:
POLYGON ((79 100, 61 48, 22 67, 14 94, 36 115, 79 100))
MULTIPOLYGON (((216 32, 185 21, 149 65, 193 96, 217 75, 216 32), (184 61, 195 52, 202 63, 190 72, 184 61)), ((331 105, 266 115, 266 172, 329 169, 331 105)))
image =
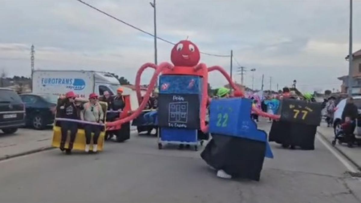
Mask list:
POLYGON ((201 157, 232 177, 260 180, 264 157, 273 158, 267 134, 251 120, 250 99, 217 99, 210 103, 212 140, 201 157))

